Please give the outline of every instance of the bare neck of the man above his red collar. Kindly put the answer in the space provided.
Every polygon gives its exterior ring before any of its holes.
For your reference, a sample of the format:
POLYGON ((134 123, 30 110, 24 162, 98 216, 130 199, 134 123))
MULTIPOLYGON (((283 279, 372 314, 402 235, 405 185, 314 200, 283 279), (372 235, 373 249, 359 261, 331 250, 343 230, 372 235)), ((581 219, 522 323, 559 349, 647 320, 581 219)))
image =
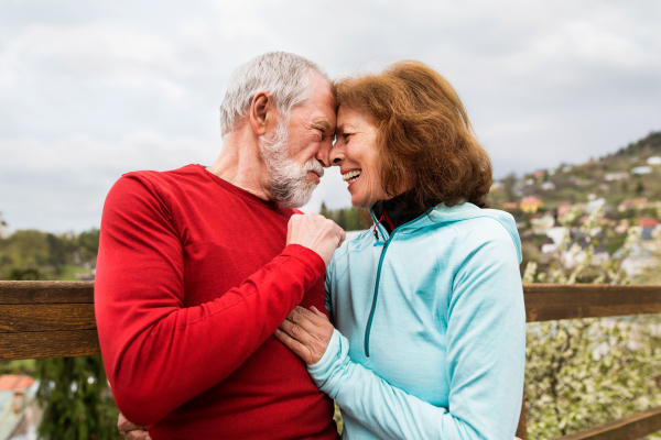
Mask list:
POLYGON ((239 129, 227 134, 220 155, 207 170, 262 200, 273 200, 258 140, 248 131, 239 129))

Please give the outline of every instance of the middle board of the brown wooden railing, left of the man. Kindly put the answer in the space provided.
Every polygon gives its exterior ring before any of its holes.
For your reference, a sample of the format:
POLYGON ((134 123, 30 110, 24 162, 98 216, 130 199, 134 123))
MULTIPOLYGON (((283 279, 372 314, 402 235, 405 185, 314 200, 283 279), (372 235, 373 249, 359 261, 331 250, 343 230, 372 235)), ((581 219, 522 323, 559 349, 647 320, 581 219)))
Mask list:
POLYGON ((94 329, 94 304, 0 305, 1 338, 4 333, 94 329))

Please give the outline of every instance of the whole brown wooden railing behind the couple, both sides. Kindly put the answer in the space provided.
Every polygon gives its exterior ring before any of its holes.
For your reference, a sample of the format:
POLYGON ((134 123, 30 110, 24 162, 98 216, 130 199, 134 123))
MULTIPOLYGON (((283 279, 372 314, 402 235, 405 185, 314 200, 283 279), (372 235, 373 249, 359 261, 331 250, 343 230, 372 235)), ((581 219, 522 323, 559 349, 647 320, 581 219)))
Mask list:
MULTIPOLYGON (((661 314, 661 286, 528 284, 528 322, 661 314)), ((0 282, 0 361, 98 354, 94 283, 0 282)), ((661 430, 661 407, 557 440, 636 440, 661 430)), ((525 405, 517 435, 527 439, 525 405)))

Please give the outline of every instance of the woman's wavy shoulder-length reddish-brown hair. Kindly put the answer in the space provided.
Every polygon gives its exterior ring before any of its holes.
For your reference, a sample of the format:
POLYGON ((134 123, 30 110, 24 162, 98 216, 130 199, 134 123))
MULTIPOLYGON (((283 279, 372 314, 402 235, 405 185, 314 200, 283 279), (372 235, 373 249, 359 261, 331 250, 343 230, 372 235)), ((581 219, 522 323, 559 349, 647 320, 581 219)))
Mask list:
POLYGON ((380 74, 337 80, 333 92, 338 107, 368 114, 376 124, 388 195, 397 196, 405 183, 420 210, 464 201, 488 208, 491 161, 457 92, 437 72, 405 61, 380 74))

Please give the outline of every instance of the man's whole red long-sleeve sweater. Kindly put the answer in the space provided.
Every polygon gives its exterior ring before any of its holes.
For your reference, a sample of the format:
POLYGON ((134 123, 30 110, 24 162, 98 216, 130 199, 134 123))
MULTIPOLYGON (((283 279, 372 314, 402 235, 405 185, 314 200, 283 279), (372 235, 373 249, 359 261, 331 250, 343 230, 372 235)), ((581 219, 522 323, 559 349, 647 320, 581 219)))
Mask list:
POLYGON ((162 439, 335 439, 333 402, 273 331, 324 310, 325 265, 281 209, 199 165, 106 199, 95 304, 119 409, 162 439))

